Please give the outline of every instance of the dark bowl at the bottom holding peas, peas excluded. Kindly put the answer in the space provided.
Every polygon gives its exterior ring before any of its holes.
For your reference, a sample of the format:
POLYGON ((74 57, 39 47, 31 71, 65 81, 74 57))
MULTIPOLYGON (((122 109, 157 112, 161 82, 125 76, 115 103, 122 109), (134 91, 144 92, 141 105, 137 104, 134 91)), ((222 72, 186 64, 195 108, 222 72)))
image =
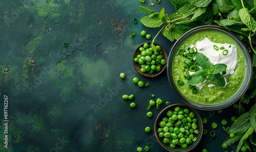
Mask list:
POLYGON ((176 151, 176 152, 181 152, 181 151, 182 151, 182 152, 187 152, 187 151, 190 151, 190 150, 194 149, 194 148, 199 144, 200 140, 202 139, 202 136, 203 136, 203 121, 202 121, 200 115, 198 114, 198 112, 197 112, 194 108, 192 108, 192 107, 190 107, 190 106, 188 106, 188 105, 185 105, 185 104, 174 104, 174 105, 170 105, 170 106, 164 108, 164 109, 158 114, 158 116, 157 116, 157 118, 156 118, 156 121, 155 121, 155 125, 154 125, 154 133, 155 133, 155 137, 156 137, 158 143, 159 143, 165 150, 171 151, 171 152, 175 152, 175 151, 176 151), (180 145, 176 145, 175 148, 171 148, 171 147, 169 146, 169 144, 165 144, 165 143, 163 142, 163 138, 160 138, 160 137, 158 136, 159 133, 157 132, 157 129, 160 128, 159 122, 162 121, 162 118, 163 118, 163 117, 167 117, 167 118, 168 118, 166 112, 167 112, 168 110, 174 111, 174 108, 177 107, 177 106, 179 106, 181 109, 187 108, 187 109, 189 110, 189 112, 193 112, 193 113, 195 114, 194 118, 196 118, 196 119, 198 120, 198 121, 197 121, 197 125, 198 125, 197 130, 199 131, 199 134, 195 134, 195 133, 194 133, 194 135, 195 135, 195 137, 197 138, 197 140, 194 141, 194 142, 192 142, 191 144, 188 144, 188 146, 187 146, 186 148, 182 148, 180 145))

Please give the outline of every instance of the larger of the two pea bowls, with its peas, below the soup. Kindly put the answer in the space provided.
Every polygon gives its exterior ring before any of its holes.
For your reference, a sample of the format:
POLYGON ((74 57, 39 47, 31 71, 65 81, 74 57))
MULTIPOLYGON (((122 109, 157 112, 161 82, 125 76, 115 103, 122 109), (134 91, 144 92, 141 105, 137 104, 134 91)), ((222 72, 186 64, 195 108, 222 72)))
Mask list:
POLYGON ((185 104, 173 104, 157 116, 154 133, 167 151, 190 151, 203 136, 203 121, 198 112, 185 104))

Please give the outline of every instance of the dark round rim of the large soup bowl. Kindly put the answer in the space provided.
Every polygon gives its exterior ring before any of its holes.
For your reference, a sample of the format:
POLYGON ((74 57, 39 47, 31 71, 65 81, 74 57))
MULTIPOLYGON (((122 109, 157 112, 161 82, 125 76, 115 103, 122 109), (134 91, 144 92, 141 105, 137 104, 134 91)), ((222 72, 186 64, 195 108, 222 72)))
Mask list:
MULTIPOLYGON (((239 98, 243 95, 243 93, 247 90, 250 80, 251 80, 251 75, 252 75, 252 61, 250 58, 250 55, 248 53, 248 50, 246 48, 246 46, 243 44, 243 42, 236 36, 234 35, 232 32, 228 31, 227 29, 220 27, 220 26, 214 26, 214 25, 206 25, 206 26, 199 26, 196 28, 193 28, 189 31, 187 31, 186 33, 184 33, 172 46, 172 48, 170 49, 169 55, 168 55, 168 61, 167 61, 167 76, 168 76, 168 80, 169 80, 169 84, 172 87, 172 89, 174 90, 175 94, 186 104, 188 104, 191 107, 200 109, 200 110, 220 110, 223 108, 226 108, 234 103, 237 102, 237 100, 239 100, 239 98), (235 94, 236 96, 234 98, 230 97, 228 99, 226 99, 224 102, 221 103, 216 103, 216 104, 210 104, 210 105, 204 105, 204 104, 199 104, 199 103, 195 103, 195 102, 190 102, 189 99, 185 98, 176 88, 176 85, 173 84, 172 81, 172 74, 171 74, 171 70, 170 70, 170 66, 171 66, 171 62, 172 62, 172 55, 173 52, 175 52, 175 47, 179 46, 180 41, 182 41, 183 39, 186 38, 187 34, 194 34, 197 31, 200 30, 205 30, 205 29, 210 29, 210 30, 218 30, 221 31, 229 36, 232 37, 232 39, 234 39, 234 41, 236 41, 238 43, 238 45, 241 47, 242 52, 245 56, 246 59, 246 74, 245 74, 245 78, 248 78, 247 82, 243 82, 242 83, 242 87, 240 87, 240 89, 238 89, 237 93, 235 94), (232 99, 232 100, 231 100, 232 99), (229 102, 226 102, 230 100, 229 102)), ((246 80, 246 79, 245 79, 246 80)))

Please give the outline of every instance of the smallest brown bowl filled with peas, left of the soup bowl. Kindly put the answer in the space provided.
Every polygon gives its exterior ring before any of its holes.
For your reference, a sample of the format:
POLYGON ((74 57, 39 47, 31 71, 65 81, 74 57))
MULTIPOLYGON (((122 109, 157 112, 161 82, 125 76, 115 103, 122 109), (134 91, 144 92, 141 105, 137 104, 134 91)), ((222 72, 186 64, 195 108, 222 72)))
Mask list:
POLYGON ((155 77, 166 68, 167 54, 159 43, 140 44, 133 55, 133 65, 138 73, 145 77, 155 77))

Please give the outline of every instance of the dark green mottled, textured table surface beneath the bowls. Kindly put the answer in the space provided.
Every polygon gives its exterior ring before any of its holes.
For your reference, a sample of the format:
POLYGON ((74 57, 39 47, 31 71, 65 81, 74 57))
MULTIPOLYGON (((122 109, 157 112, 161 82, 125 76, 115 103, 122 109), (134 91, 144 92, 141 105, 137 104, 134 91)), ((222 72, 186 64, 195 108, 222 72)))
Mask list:
MULTIPOLYGON (((165 13, 175 12, 169 1, 0 1, 1 121, 8 121, 8 134, 1 125, 0 151, 136 151, 150 146, 150 151, 164 151, 153 129, 160 110, 150 99, 161 98, 171 104, 183 103, 172 90, 166 70, 155 78, 140 75, 133 67, 135 48, 146 41, 145 30, 154 37, 160 29, 146 28, 139 21, 146 13, 139 6, 165 13), (133 23, 133 18, 138 23, 133 23), (136 35, 131 38, 131 33, 136 35), (68 42, 64 46, 63 42, 68 42), (125 79, 119 73, 126 74, 125 79), (134 77, 150 86, 140 88, 134 77), (122 99, 134 94, 133 101, 122 99), (151 97, 155 94, 155 97, 151 97), (4 97, 8 96, 8 117, 4 118, 4 97), (130 108, 135 102, 136 108, 130 108), (8 135, 8 148, 3 139, 8 135)), ((153 38, 151 38, 152 40, 153 38)), ((173 43, 161 34, 156 42, 167 54, 173 43)), ((224 151, 228 134, 222 119, 234 114, 232 106, 215 111, 197 110, 207 118, 204 128, 216 136, 203 135, 193 151, 224 151), (218 124, 212 129, 211 122, 218 124)), ((227 151, 235 150, 237 145, 227 151)))

